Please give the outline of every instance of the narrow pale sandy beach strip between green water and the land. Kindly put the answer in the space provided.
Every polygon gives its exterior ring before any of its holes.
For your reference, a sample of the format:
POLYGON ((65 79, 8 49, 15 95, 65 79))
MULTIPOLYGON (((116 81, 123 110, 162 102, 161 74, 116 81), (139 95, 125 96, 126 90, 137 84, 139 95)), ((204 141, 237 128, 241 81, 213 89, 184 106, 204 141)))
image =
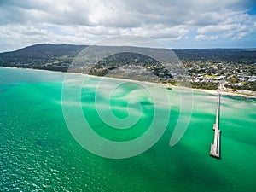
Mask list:
MULTIPOLYGON (((61 71, 51 71, 51 70, 45 70, 45 69, 34 69, 34 68, 22 68, 22 67, 2 67, 1 68, 9 68, 9 69, 24 69, 24 70, 33 70, 33 71, 40 71, 40 72, 51 72, 51 73, 61 73, 61 74, 67 74, 69 72, 61 72, 61 71)), ((84 74, 84 73, 70 73, 70 74, 79 74, 79 75, 84 75, 84 76, 89 76, 89 77, 94 77, 94 78, 101 78, 101 79, 113 79, 113 80, 122 80, 122 81, 130 81, 130 82, 140 82, 140 83, 146 83, 146 84, 157 84, 160 86, 163 86, 165 88, 172 88, 172 87, 177 87, 177 88, 186 88, 186 89, 191 89, 195 91, 201 91, 213 96, 218 96, 218 90, 204 90, 204 89, 195 89, 191 87, 183 87, 183 86, 178 86, 178 85, 172 85, 172 84, 160 84, 160 83, 154 83, 154 82, 148 82, 148 81, 139 81, 139 80, 134 80, 134 79, 119 79, 119 78, 112 78, 112 77, 106 77, 106 76, 94 76, 94 75, 89 75, 89 74, 84 74)), ((242 90, 241 90, 242 91, 242 90)), ((246 90, 247 91, 247 90, 246 90)), ((231 91, 224 91, 221 90, 219 91, 221 96, 241 96, 244 98, 251 98, 251 99, 256 99, 256 93, 253 92, 255 95, 249 95, 249 94, 243 94, 241 92, 231 92, 231 91)))

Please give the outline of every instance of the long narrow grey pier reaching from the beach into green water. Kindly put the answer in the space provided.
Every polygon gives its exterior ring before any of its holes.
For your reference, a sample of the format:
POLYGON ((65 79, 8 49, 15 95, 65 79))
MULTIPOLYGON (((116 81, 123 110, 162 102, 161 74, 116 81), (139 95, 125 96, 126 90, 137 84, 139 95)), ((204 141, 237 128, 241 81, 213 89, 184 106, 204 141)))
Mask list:
POLYGON ((220 106, 220 94, 218 93, 218 105, 217 105, 217 112, 216 112, 216 121, 215 124, 213 124, 213 130, 214 130, 214 140, 211 144, 211 150, 210 155, 212 157, 220 158, 220 130, 218 129, 219 125, 219 107, 220 106))

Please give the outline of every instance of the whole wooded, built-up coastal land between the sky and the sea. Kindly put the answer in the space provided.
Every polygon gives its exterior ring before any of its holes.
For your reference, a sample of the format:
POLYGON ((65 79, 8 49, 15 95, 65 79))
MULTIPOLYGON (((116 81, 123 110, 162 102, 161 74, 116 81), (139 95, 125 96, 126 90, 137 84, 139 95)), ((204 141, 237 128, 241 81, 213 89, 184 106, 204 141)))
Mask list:
POLYGON ((107 75, 166 86, 191 87, 213 95, 219 90, 222 95, 256 96, 256 49, 127 49, 125 46, 92 45, 88 47, 88 52, 93 54, 81 56, 80 53, 84 53, 87 47, 72 44, 35 44, 0 53, 0 67, 84 73, 97 77, 107 75), (97 56, 98 52, 102 54, 101 51, 118 53, 107 54, 108 56, 102 58, 97 56), (154 59, 155 56, 141 53, 154 53, 153 55, 162 57, 166 63, 157 61, 158 57, 154 59), (98 58, 102 59, 97 61, 98 58))

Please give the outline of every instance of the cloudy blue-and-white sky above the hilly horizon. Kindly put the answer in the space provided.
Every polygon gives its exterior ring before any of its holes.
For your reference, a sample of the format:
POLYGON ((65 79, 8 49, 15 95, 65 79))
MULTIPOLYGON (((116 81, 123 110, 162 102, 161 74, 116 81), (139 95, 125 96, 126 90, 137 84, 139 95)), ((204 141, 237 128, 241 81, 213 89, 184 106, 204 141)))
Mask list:
POLYGON ((0 0, 0 52, 119 35, 170 49, 256 48, 256 0, 0 0))

